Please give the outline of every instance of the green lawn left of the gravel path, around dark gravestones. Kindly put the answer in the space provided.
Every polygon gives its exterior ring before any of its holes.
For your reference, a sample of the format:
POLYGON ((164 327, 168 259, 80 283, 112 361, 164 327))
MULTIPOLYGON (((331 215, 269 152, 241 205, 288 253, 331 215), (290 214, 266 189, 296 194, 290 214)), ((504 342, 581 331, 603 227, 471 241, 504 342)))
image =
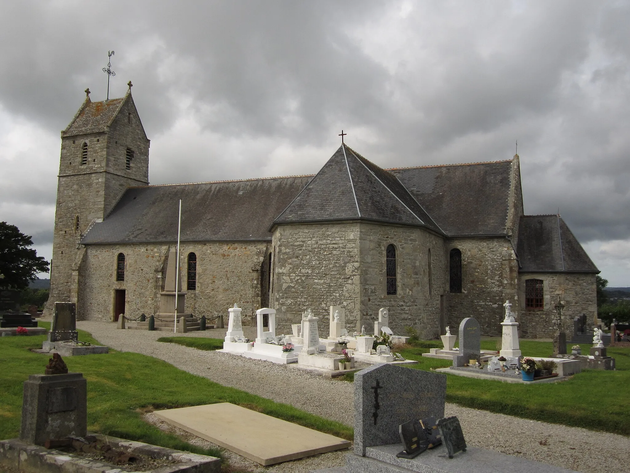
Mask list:
MULTIPOLYGON (((40 327, 50 324, 40 322, 40 327)), ((49 355, 33 353, 45 336, 2 337, 0 339, 0 438, 14 438, 20 432, 22 383, 29 374, 43 373, 49 355)), ((79 330, 79 340, 98 343, 79 330)), ((191 340, 191 339, 188 339, 191 340)), ((138 353, 68 356, 69 371, 83 373, 88 380, 88 429, 105 435, 144 441, 162 447, 219 456, 218 450, 204 450, 164 433, 141 418, 146 408, 169 409, 214 402, 232 402, 270 416, 284 419, 331 435, 352 440, 352 428, 300 411, 247 392, 224 387, 175 366, 138 353)))

